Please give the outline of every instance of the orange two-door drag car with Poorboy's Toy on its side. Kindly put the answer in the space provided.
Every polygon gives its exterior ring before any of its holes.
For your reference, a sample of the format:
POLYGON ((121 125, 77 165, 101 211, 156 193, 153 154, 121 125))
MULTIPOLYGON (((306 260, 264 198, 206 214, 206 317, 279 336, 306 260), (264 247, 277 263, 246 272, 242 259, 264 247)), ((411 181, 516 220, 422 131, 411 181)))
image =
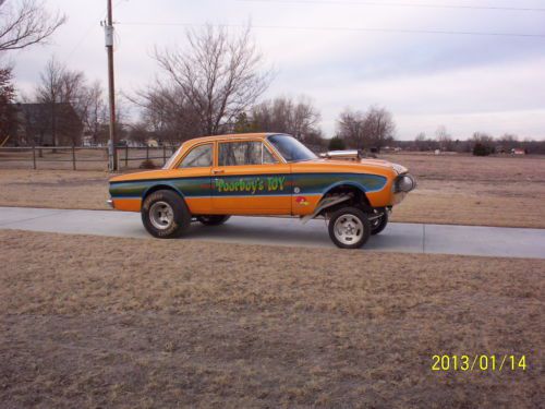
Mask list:
POLYGON ((231 215, 326 217, 334 243, 355 249, 386 227, 388 212, 414 188, 399 165, 320 159, 286 134, 235 134, 184 142, 162 169, 110 179, 109 203, 141 212, 157 238, 231 215))

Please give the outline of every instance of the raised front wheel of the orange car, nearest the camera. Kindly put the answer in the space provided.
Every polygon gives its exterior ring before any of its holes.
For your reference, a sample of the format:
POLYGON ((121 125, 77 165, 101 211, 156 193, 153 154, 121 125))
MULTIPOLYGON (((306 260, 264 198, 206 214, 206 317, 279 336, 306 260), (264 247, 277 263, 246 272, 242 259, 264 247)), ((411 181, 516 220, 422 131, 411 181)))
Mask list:
POLYGON ((356 207, 341 207, 329 219, 329 238, 340 249, 360 249, 371 236, 371 224, 356 207))

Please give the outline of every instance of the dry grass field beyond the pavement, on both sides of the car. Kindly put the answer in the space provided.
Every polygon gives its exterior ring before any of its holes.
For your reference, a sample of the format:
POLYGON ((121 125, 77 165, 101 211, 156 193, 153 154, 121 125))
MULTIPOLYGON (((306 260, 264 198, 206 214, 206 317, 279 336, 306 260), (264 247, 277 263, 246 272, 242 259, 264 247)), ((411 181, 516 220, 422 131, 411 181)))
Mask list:
MULTIPOLYGON (((393 221, 545 228, 545 157, 385 155, 419 189, 393 221)), ((106 209, 108 173, 0 170, 0 205, 106 209)))

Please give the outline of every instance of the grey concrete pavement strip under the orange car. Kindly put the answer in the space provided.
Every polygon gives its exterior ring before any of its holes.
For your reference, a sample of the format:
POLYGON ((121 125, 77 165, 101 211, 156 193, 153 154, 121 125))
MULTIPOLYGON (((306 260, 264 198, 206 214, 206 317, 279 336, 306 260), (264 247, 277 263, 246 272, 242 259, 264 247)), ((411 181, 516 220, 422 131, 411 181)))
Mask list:
MULTIPOLYGON (((140 214, 111 210, 65 210, 0 207, 0 229, 148 238, 140 214)), ((334 248, 324 220, 232 217, 219 227, 194 224, 189 239, 334 248)), ((444 253, 545 258, 545 229, 392 222, 364 249, 404 253, 444 253)))

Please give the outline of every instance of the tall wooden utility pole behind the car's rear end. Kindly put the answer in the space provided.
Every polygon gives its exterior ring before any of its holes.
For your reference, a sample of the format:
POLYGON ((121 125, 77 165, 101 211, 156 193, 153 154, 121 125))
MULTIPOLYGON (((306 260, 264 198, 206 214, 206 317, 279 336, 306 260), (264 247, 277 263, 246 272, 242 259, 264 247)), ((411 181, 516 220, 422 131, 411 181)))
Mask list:
POLYGON ((108 169, 118 170, 116 139, 116 83, 113 77, 113 16, 111 0, 108 1, 108 19, 105 24, 106 51, 108 53, 108 93, 110 98, 110 141, 108 142, 108 169))

